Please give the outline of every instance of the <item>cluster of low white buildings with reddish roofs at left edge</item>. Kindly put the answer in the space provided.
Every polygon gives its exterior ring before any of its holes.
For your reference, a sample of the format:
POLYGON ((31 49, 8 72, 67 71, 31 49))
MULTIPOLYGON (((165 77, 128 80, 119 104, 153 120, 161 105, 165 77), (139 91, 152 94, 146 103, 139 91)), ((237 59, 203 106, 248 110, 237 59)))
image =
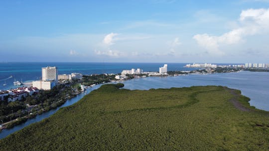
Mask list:
POLYGON ((8 97, 8 102, 21 100, 22 97, 26 98, 26 96, 32 95, 34 92, 38 92, 37 87, 18 87, 15 89, 0 91, 0 100, 4 100, 5 97, 8 97))

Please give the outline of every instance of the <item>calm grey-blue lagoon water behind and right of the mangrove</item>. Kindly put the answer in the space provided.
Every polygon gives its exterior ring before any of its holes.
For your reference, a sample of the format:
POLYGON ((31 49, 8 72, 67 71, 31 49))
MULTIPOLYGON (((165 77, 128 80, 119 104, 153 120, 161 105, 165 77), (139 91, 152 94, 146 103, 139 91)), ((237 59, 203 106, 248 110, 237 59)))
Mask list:
POLYGON ((239 89, 251 98, 250 104, 269 111, 269 72, 248 72, 208 75, 135 78, 124 81, 128 89, 189 87, 195 85, 222 85, 239 89))

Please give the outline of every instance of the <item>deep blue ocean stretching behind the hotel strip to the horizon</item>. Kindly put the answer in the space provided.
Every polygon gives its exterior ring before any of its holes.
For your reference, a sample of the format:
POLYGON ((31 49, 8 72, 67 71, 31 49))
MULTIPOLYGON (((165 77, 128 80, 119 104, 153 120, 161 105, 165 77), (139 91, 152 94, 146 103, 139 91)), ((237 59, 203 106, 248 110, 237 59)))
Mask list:
MULTIPOLYGON (((41 68, 56 66, 58 74, 82 73, 91 74, 118 74, 123 70, 140 68, 144 72, 158 72, 165 63, 0 63, 0 90, 10 89, 14 80, 30 81, 41 78, 41 68), (8 78, 12 75, 12 78, 8 78), (8 78, 8 79, 6 79, 8 78), (6 79, 6 80, 4 80, 6 79), (3 86, 6 82, 7 85, 3 86)), ((169 63, 168 71, 191 71, 196 68, 184 68, 189 63, 169 63)), ((228 65, 228 64, 218 64, 228 65)))

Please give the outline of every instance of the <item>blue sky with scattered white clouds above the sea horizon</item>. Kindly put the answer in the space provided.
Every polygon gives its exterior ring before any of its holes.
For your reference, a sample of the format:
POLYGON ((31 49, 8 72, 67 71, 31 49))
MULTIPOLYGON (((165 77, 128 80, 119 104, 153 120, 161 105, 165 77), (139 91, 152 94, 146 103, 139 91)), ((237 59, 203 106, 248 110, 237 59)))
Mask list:
POLYGON ((0 62, 269 63, 269 0, 0 0, 0 62))

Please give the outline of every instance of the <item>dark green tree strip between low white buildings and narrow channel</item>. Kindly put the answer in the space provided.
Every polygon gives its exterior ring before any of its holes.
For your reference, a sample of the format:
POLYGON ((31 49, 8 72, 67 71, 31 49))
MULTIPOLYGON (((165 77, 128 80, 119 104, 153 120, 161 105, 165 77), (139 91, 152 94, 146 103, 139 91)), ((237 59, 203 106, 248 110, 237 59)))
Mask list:
MULTIPOLYGON (((48 111, 52 108, 56 108, 62 105, 68 98, 74 97, 69 85, 60 84, 54 86, 51 90, 40 90, 38 93, 28 95, 21 100, 8 102, 7 100, 0 101, 0 124, 9 122, 20 117, 29 116, 34 117, 37 114, 41 114, 44 111, 48 111), (31 106, 30 108, 26 106, 31 106)), ((16 124, 23 123, 25 120, 20 122, 14 121, 12 124, 5 126, 6 128, 12 128, 16 124), (12 125, 12 126, 10 126, 12 125)))

